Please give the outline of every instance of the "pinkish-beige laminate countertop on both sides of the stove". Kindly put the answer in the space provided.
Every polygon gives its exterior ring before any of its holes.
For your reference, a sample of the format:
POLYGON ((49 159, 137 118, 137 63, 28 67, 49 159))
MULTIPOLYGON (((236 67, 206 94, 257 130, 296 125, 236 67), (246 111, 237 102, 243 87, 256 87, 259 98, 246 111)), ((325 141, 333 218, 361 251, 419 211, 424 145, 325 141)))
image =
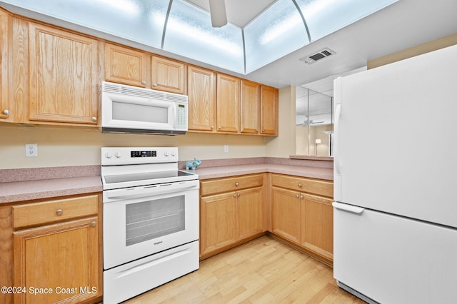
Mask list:
MULTIPOLYGON (((250 163, 258 159, 224 161, 225 166, 207 166, 189 172, 198 174, 200 180, 269 172, 333 181, 333 162, 326 162, 325 166, 309 166, 312 163, 297 166, 287 159, 287 163, 265 159, 264 163, 250 163)), ((100 166, 0 170, 0 204, 101 192, 99 174, 100 166)))

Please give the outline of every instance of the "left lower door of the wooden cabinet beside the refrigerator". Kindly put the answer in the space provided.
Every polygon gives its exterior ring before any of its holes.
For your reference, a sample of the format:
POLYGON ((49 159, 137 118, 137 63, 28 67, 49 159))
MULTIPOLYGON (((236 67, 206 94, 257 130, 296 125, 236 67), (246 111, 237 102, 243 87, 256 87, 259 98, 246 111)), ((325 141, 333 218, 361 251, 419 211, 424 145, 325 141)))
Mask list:
POLYGON ((300 243, 300 193, 272 187, 271 227, 273 233, 294 243, 300 243))

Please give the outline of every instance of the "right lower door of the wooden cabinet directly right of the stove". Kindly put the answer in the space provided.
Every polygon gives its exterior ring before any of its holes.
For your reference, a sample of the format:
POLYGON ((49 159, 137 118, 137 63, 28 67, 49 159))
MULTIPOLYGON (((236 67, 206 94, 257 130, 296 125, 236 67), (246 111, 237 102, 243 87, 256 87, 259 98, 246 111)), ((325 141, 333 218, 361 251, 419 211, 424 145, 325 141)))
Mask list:
POLYGON ((263 232, 262 188, 237 191, 236 239, 263 232))

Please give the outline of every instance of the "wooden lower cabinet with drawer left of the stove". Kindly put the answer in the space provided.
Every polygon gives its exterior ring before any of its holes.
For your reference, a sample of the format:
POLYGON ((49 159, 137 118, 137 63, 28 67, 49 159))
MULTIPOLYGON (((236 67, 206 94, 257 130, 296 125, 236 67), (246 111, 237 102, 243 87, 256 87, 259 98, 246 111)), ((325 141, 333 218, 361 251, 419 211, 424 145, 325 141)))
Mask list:
POLYGON ((1 283, 14 287, 4 303, 99 303, 100 208, 99 193, 1 207, 0 238, 12 245, 1 283))

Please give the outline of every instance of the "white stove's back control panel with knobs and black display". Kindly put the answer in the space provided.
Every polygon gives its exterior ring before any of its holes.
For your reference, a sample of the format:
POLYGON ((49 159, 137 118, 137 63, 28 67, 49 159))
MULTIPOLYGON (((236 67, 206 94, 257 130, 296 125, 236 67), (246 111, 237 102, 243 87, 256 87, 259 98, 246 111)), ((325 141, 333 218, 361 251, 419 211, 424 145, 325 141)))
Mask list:
POLYGON ((178 162, 178 147, 101 148, 101 166, 176 162, 178 162))

